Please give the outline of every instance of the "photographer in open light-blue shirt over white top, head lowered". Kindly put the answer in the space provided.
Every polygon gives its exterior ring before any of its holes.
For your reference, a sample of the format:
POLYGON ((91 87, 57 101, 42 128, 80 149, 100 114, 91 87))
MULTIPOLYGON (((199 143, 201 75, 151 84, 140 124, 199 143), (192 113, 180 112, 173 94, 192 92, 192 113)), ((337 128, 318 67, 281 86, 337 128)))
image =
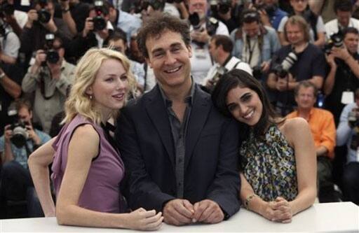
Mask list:
POLYGON ((269 71, 271 57, 280 49, 276 31, 263 26, 257 10, 243 10, 241 27, 232 31, 233 55, 250 64, 253 76, 262 80, 269 71))

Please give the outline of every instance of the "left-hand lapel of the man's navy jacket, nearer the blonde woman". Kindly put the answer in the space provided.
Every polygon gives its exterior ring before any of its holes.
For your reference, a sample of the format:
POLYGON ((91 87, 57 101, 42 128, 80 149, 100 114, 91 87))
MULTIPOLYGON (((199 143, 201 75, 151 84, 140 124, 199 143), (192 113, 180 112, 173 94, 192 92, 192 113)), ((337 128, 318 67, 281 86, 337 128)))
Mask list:
POLYGON ((170 122, 158 85, 156 85, 156 87, 149 92, 147 95, 147 101, 149 101, 149 104, 146 104, 145 106, 147 113, 149 114, 149 118, 151 118, 154 127, 157 129, 163 146, 165 146, 165 150, 170 157, 172 166, 175 167, 175 151, 172 134, 170 132, 170 122))

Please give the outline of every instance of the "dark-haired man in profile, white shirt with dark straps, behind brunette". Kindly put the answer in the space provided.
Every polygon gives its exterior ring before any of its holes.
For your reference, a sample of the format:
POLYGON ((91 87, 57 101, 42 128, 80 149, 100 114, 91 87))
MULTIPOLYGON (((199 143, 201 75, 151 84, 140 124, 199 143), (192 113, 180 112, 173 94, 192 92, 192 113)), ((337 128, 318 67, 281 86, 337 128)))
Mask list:
POLYGON ((202 85, 205 90, 212 92, 219 78, 232 69, 242 69, 252 75, 250 65, 242 62, 241 59, 231 56, 233 43, 229 36, 215 35, 210 39, 210 55, 215 64, 208 71, 207 77, 203 80, 202 85))

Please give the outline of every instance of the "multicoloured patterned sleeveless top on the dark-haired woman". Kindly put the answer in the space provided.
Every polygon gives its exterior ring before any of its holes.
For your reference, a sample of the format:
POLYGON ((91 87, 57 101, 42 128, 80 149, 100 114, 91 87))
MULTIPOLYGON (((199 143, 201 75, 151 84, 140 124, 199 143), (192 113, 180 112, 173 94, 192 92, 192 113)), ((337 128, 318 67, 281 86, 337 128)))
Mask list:
POLYGON ((292 201, 298 194, 294 150, 276 125, 264 137, 250 132, 241 146, 243 174, 255 194, 266 202, 283 197, 292 201))

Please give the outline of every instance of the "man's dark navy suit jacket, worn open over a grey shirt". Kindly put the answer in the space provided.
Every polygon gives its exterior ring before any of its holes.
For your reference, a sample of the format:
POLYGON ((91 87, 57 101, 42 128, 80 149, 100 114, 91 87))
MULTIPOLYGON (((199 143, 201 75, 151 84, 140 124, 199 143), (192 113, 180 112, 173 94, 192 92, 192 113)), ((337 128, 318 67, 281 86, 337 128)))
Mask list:
MULTIPOLYGON (((217 202, 227 217, 240 208, 238 126, 212 106, 197 85, 189 117, 184 158, 184 199, 217 202)), ((159 87, 121 111, 116 142, 126 167, 131 209, 162 211, 175 199, 175 148, 159 87)))

